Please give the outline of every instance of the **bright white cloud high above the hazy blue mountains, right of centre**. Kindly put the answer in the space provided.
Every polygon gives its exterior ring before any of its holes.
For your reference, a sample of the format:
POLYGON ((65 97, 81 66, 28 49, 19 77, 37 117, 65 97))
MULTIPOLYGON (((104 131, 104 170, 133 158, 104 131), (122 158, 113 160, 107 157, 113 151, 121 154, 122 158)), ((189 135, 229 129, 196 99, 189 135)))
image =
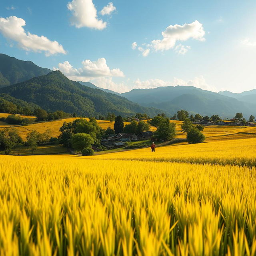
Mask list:
MULTIPOLYGON (((155 52, 163 52, 174 48, 174 51, 178 54, 185 54, 190 49, 190 46, 183 46, 182 44, 176 46, 176 43, 190 38, 204 41, 204 35, 203 24, 198 20, 184 25, 170 25, 162 32, 162 39, 152 40, 150 44, 147 44, 147 47, 148 49, 152 48, 155 52)), ((140 50, 139 47, 138 50, 140 50)))

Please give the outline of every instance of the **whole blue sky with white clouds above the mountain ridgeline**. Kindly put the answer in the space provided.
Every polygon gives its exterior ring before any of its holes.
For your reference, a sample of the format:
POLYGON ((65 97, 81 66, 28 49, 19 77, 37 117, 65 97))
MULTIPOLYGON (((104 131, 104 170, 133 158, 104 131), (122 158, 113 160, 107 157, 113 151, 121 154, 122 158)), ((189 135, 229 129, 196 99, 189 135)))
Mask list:
POLYGON ((242 92, 256 88, 255 16, 255 0, 2 0, 0 52, 118 92, 242 92))

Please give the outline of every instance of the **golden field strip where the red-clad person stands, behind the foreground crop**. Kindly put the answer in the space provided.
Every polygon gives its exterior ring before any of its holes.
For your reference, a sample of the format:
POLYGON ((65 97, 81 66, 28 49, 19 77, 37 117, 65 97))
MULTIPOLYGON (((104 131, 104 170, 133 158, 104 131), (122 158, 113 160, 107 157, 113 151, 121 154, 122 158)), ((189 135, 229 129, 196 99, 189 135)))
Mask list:
POLYGON ((153 153, 150 148, 141 148, 90 158, 219 164, 244 164, 246 162, 247 164, 256 164, 256 135, 247 136, 251 137, 230 140, 227 138, 227 140, 216 140, 201 144, 173 144, 159 148, 156 146, 156 152, 153 153))

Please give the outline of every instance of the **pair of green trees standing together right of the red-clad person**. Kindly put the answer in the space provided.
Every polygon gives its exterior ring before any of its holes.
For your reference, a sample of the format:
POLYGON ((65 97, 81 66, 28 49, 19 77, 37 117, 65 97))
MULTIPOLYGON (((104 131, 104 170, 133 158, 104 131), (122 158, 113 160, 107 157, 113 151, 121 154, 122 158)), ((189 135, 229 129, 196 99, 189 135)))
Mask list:
POLYGON ((186 118, 181 126, 182 132, 187 133, 188 143, 201 143, 205 140, 202 130, 204 127, 201 125, 193 126, 192 121, 186 118))

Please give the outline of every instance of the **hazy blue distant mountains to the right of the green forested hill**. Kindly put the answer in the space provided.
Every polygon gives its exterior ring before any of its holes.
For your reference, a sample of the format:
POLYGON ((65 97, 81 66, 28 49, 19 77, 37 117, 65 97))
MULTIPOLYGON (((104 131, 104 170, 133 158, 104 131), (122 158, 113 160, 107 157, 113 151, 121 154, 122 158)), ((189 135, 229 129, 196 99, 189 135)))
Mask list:
POLYGON ((171 114, 180 109, 208 116, 218 114, 224 118, 231 118, 236 112, 242 112, 245 117, 256 114, 256 101, 244 102, 240 98, 238 100, 194 86, 134 89, 121 95, 143 106, 160 108, 171 114))

